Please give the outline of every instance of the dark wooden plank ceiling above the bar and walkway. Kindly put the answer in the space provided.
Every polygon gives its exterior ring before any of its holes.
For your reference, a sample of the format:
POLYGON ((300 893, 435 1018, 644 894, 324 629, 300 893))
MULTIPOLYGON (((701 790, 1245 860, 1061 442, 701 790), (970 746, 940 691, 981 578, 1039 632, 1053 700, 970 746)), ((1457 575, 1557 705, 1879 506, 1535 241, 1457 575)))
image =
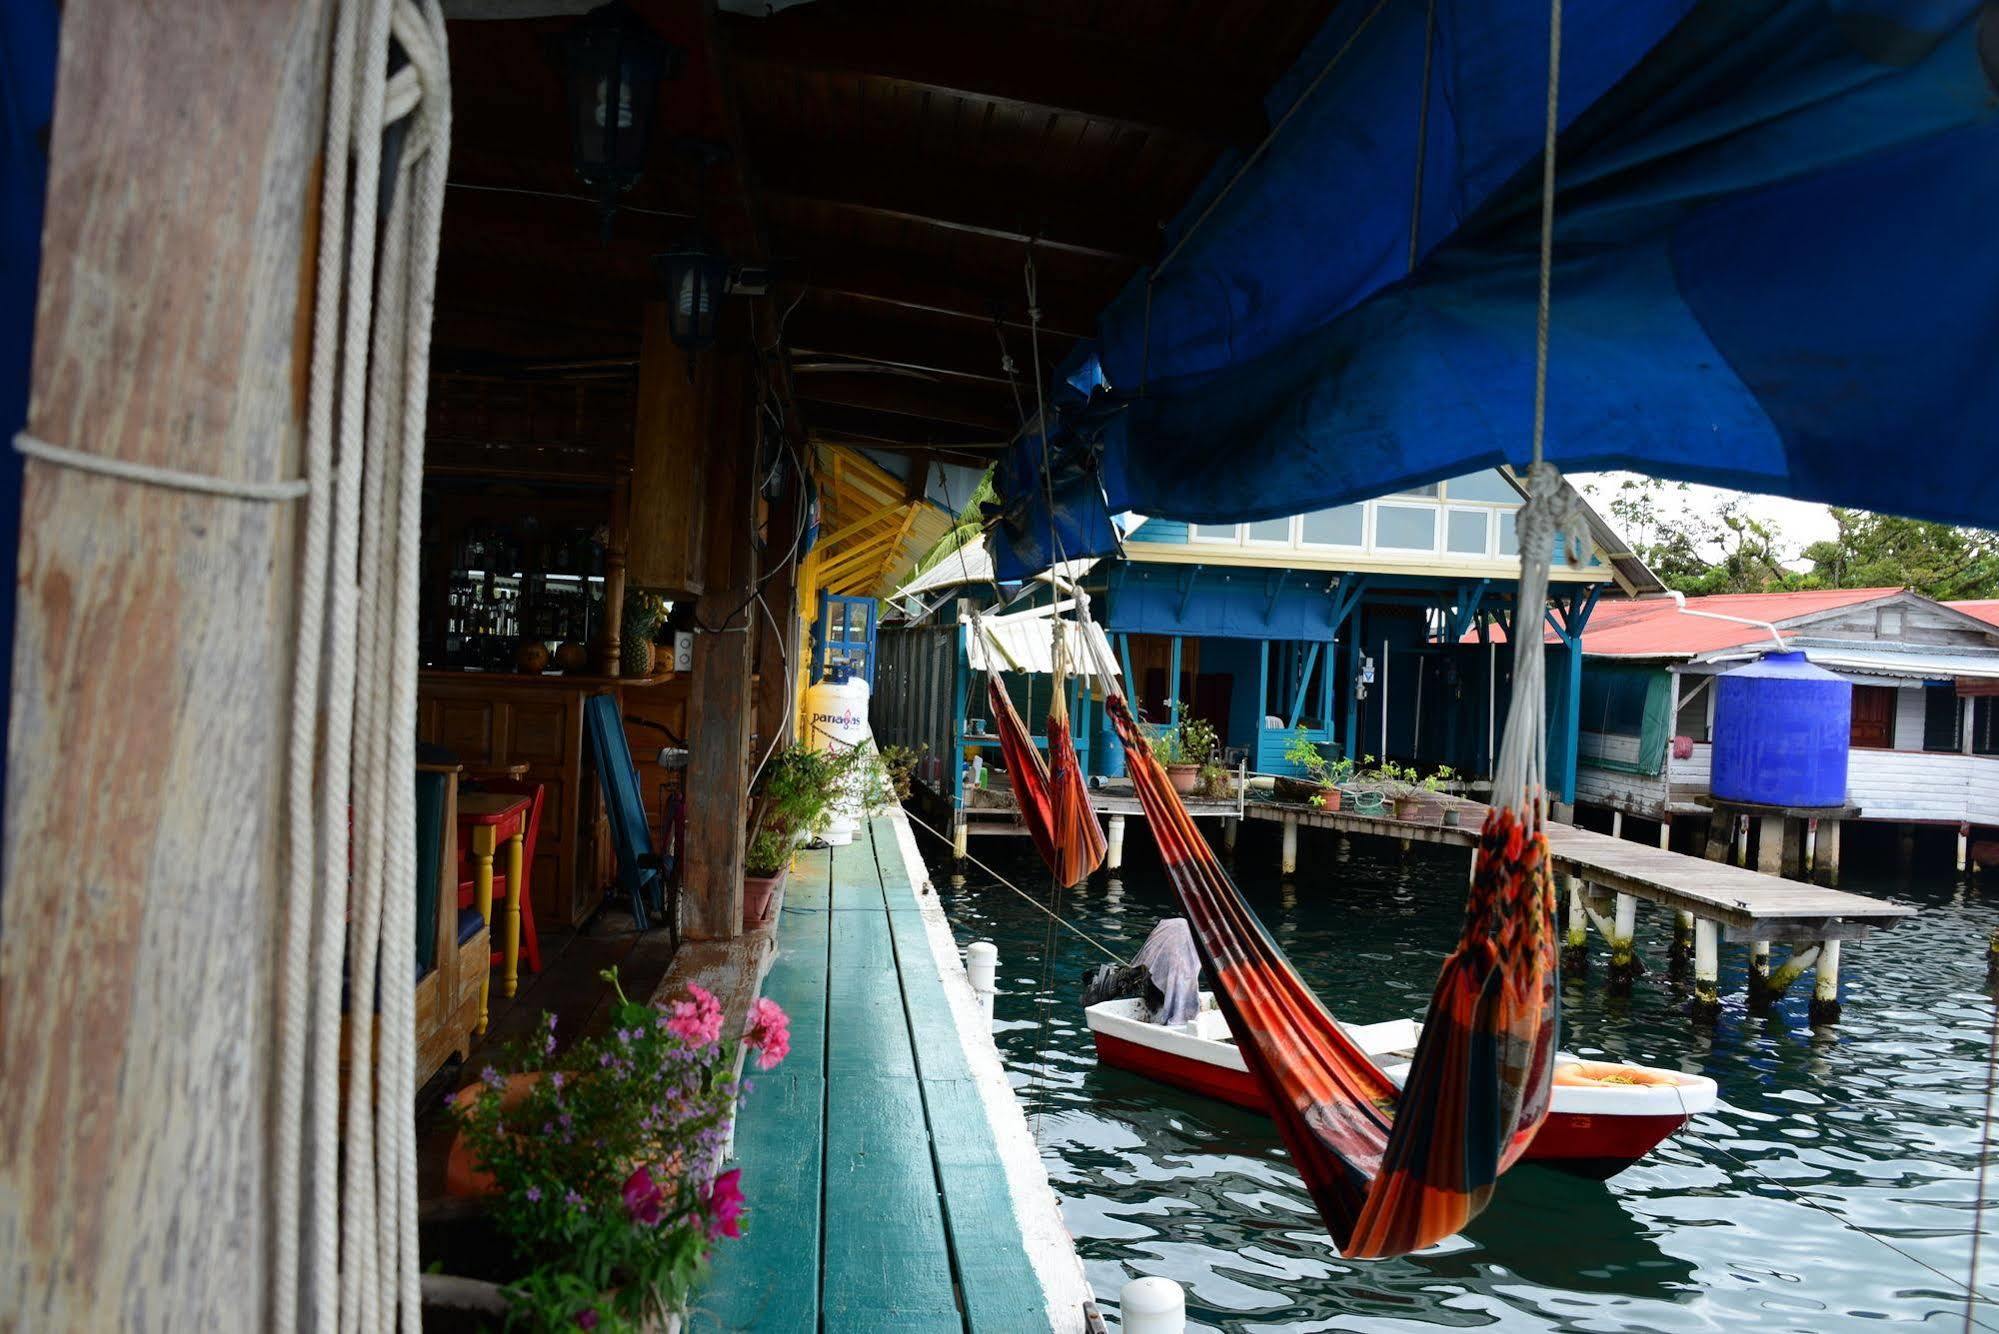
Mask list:
MULTIPOLYGON (((1333 2, 812 0, 744 16, 634 0, 686 64, 604 240, 562 100, 560 38, 584 6, 456 0, 452 14, 548 16, 450 24, 438 364, 630 374, 640 308, 660 296, 648 256, 702 212, 774 274, 756 332, 786 350, 816 446, 980 464, 1033 404, 1029 248, 1047 374, 1157 256, 1217 154, 1263 136, 1263 92, 1333 2), (704 172, 684 140, 732 158, 704 172)), ((920 504, 922 486, 896 484, 920 504)), ((930 526, 904 524, 884 576, 930 526)))

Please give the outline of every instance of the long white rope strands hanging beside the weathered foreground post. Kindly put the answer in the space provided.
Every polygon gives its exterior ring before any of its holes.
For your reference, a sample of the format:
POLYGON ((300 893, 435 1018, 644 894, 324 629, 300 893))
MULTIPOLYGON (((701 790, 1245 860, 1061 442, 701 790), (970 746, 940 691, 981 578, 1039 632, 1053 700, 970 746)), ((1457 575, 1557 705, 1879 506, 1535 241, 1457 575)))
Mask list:
POLYGON ((284 1330, 422 1324, 416 584, 448 146, 436 0, 336 4, 286 770, 272 1266, 284 1330), (392 36, 408 58, 394 78, 392 36), (396 120, 408 126, 382 226, 382 138, 396 120))

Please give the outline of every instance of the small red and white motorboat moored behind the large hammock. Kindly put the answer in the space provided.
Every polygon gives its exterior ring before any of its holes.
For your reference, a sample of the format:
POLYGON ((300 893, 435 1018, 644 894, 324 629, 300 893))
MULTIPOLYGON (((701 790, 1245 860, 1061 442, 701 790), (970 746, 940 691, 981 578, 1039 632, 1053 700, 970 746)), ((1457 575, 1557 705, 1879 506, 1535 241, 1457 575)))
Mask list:
MULTIPOLYGON (((1085 1008, 1097 1060, 1105 1066, 1269 1112, 1261 1086, 1235 1050, 1229 1024, 1213 996, 1185 1024, 1151 1024, 1141 998, 1103 1000, 1085 1008)), ((1353 1038, 1399 1086, 1415 1058, 1415 1020, 1347 1024, 1353 1038)), ((1547 1122, 1527 1148, 1539 1162, 1597 1180, 1623 1172, 1679 1130, 1689 1116, 1715 1106, 1715 1082, 1655 1066, 1557 1056, 1555 1098, 1547 1122)))

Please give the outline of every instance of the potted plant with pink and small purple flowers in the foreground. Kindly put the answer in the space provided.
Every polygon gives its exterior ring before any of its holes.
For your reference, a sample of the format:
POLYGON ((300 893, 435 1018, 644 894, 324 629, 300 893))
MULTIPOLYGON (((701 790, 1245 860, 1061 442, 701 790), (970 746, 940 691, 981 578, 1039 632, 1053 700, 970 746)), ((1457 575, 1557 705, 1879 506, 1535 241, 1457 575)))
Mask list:
MULTIPOLYGON (((712 1248, 742 1236, 740 1172, 716 1172, 736 1110, 736 1042, 698 986, 642 1006, 612 982, 610 1030, 558 1056, 556 1016, 452 1102, 454 1162, 474 1168, 504 1246, 508 1328, 664 1330, 712 1248)), ((790 1020, 758 1000, 744 1044, 770 1070, 790 1020)))

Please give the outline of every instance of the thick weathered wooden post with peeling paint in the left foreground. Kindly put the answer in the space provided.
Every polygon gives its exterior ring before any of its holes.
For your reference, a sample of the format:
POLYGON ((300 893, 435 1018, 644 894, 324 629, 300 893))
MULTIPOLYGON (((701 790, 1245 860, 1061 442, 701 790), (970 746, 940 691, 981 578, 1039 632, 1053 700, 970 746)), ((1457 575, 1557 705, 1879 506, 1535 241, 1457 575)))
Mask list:
MULTIPOLYGON (((62 6, 34 436, 300 474, 324 10, 62 6)), ((0 1326, 270 1322, 302 504, 26 462, 0 1326)))

